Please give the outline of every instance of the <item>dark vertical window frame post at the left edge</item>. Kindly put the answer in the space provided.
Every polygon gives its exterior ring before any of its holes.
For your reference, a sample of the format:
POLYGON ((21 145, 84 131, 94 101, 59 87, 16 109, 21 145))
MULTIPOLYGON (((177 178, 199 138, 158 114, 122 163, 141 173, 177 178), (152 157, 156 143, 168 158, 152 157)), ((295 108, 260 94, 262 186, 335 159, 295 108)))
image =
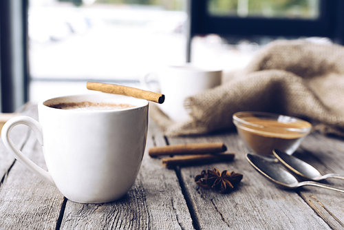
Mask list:
POLYGON ((1 0, 1 112, 14 112, 28 102, 28 90, 28 0, 1 0))

